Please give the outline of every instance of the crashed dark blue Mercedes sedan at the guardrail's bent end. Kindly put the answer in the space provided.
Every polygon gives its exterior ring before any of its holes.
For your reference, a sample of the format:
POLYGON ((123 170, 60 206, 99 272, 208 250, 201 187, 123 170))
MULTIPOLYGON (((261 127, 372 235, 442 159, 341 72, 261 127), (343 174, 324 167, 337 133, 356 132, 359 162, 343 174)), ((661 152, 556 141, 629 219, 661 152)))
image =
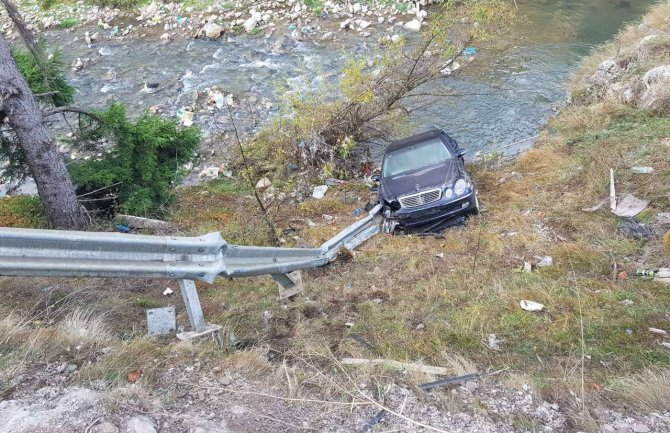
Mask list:
POLYGON ((388 146, 379 177, 384 230, 437 226, 452 217, 479 212, 465 171, 465 151, 444 131, 414 135, 388 146))

